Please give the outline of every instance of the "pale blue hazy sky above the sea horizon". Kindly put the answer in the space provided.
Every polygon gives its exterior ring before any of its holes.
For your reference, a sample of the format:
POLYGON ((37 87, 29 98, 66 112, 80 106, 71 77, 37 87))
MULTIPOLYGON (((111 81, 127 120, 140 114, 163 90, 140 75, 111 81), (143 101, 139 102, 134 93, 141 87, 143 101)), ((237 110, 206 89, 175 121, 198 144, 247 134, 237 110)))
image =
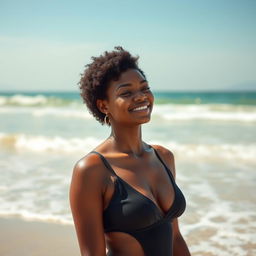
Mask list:
POLYGON ((153 90, 256 90, 254 0, 0 0, 2 91, 76 91, 118 45, 153 90))

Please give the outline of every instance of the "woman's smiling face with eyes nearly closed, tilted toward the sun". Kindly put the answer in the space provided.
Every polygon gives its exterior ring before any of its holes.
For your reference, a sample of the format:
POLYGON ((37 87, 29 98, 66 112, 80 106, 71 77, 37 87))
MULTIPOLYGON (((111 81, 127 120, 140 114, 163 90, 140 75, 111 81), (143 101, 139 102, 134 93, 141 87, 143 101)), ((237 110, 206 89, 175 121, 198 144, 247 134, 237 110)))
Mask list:
POLYGON ((107 90, 107 112, 112 124, 139 125, 150 120, 154 96, 136 69, 123 72, 107 90))

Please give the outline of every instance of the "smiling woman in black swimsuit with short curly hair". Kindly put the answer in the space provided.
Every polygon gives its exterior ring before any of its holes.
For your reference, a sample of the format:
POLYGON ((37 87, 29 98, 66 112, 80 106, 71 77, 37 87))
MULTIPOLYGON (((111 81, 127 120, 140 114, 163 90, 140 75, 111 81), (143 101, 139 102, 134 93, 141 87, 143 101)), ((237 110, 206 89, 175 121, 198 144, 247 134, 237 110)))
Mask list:
POLYGON ((142 140, 154 97, 135 58, 121 47, 93 57, 81 96, 110 136, 74 167, 70 205, 82 255, 187 256, 178 220, 185 199, 174 156, 142 140))

